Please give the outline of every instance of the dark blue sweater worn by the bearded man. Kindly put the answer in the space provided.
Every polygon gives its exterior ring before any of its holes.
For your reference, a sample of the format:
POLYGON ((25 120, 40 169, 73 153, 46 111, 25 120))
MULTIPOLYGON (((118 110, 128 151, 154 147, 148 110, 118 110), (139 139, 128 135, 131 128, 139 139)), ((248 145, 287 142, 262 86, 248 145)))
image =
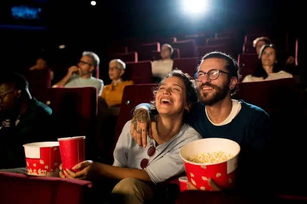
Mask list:
POLYGON ((241 102, 239 113, 228 124, 216 126, 206 115, 205 105, 201 102, 193 105, 188 123, 203 138, 218 137, 236 141, 243 147, 261 150, 265 148, 269 138, 269 115, 261 108, 241 102))

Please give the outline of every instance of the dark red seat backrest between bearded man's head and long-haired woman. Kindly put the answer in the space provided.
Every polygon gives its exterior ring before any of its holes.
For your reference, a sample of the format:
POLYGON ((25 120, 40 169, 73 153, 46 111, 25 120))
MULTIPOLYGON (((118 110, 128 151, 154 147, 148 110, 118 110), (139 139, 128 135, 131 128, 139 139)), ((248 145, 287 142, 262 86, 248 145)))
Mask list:
POLYGON ((242 75, 242 79, 246 75, 252 74, 254 72, 257 63, 258 63, 257 54, 239 54, 238 64, 240 67, 240 73, 242 75))

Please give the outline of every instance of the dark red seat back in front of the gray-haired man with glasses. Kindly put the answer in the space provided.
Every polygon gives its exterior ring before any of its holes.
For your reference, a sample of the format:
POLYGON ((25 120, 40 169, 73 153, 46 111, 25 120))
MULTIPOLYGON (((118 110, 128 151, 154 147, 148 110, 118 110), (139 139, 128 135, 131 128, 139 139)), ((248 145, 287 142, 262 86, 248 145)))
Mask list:
POLYGON ((59 137, 86 136, 87 154, 94 142, 97 92, 94 87, 48 88, 47 102, 56 117, 54 132, 59 137))

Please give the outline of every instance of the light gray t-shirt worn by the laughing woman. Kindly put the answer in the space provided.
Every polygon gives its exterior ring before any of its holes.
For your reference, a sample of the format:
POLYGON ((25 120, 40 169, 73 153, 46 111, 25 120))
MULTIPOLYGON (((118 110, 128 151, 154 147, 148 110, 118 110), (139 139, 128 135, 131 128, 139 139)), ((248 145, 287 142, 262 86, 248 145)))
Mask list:
POLYGON ((130 135, 131 120, 126 122, 118 138, 114 150, 113 166, 141 169, 140 162, 148 158, 149 162, 144 170, 152 182, 158 183, 167 180, 185 171, 184 163, 180 157, 180 149, 185 144, 201 139, 202 136, 190 125, 183 124, 181 130, 169 141, 156 147, 156 142, 147 135, 147 146, 139 146, 130 135), (148 148, 154 145, 156 152, 149 157, 148 148))

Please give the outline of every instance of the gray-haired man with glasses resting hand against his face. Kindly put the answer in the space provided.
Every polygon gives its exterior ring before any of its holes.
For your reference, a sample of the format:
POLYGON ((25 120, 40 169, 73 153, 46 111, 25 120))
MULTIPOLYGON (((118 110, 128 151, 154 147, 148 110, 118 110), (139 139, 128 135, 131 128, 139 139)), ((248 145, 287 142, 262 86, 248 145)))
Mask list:
POLYGON ((77 65, 69 67, 67 74, 53 85, 56 87, 86 87, 91 86, 97 89, 97 95, 101 94, 103 81, 92 76, 99 66, 99 57, 91 51, 84 51, 77 65))

